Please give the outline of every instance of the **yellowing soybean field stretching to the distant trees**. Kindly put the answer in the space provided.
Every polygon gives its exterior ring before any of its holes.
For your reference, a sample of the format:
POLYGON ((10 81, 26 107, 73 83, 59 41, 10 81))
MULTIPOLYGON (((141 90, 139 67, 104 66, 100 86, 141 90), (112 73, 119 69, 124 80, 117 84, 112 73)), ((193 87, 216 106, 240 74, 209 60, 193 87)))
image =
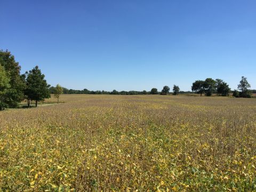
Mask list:
POLYGON ((0 191, 256 190, 256 99, 60 101, 0 112, 0 191))

